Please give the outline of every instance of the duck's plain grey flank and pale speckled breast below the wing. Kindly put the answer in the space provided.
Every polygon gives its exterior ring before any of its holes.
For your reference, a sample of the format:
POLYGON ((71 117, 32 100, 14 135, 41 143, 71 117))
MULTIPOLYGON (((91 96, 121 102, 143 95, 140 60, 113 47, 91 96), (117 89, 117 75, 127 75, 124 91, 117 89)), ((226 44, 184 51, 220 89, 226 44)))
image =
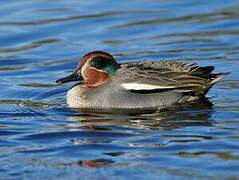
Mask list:
POLYGON ((173 91, 161 93, 134 93, 109 81, 102 87, 87 89, 74 86, 67 92, 66 101, 70 107, 93 110, 154 110, 177 102, 181 94, 173 91))

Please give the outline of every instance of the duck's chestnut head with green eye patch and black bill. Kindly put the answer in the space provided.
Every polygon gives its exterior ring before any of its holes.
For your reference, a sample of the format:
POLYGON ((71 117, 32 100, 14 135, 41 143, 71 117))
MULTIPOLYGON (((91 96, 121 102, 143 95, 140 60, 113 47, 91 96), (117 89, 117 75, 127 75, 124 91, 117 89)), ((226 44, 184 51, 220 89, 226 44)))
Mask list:
POLYGON ((79 81, 84 87, 96 88, 114 76, 119 68, 120 65, 109 53, 93 51, 84 55, 72 74, 56 82, 79 81))

